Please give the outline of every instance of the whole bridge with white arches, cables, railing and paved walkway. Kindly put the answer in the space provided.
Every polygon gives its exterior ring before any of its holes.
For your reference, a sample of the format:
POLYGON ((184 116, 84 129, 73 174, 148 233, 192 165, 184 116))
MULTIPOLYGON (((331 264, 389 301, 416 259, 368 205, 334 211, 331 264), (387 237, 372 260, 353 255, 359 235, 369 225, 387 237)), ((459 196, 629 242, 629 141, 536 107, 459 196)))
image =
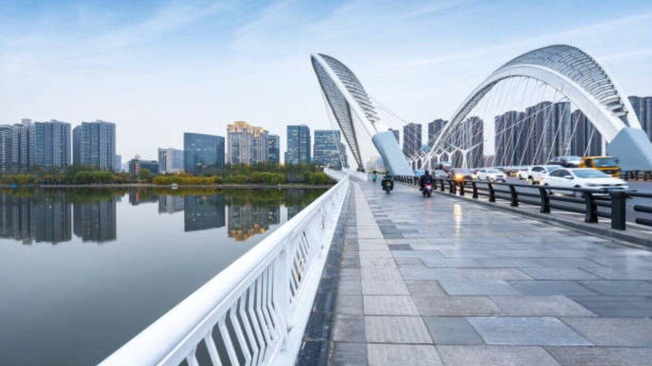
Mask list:
POLYGON ((555 144, 565 151, 557 136, 569 131, 547 122, 556 104, 563 115, 580 111, 625 167, 652 170, 649 140, 593 57, 550 46, 512 59, 408 158, 391 131, 400 117, 340 61, 311 62, 357 170, 327 171, 333 188, 100 365, 649 364, 652 220, 625 225, 626 197, 578 190, 583 198, 559 200, 584 208, 560 210, 546 190, 513 184, 482 191, 441 181, 432 199, 412 184, 414 169, 443 160, 497 165, 484 162, 488 141, 511 165, 542 161, 555 144), (487 115, 503 113, 505 101, 527 106, 534 94, 552 101, 484 135, 487 115), (370 154, 396 177, 392 194, 367 180, 370 154))

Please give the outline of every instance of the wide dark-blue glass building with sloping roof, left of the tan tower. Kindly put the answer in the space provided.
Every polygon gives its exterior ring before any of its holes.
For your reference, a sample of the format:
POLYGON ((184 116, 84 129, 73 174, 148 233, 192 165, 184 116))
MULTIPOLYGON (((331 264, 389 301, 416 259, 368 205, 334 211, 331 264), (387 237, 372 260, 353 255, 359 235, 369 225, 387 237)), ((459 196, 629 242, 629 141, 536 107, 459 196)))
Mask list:
POLYGON ((207 134, 183 134, 183 166, 186 173, 224 169, 224 137, 207 134))

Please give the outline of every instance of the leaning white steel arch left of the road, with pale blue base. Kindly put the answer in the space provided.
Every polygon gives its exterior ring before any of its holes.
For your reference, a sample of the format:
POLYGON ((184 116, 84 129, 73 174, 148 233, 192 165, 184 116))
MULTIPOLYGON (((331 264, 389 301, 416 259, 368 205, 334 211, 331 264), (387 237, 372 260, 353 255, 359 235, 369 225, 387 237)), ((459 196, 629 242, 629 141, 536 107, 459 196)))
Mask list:
POLYGON ((364 132, 371 137, 383 165, 394 175, 411 175, 408 161, 402 154, 393 132, 380 117, 372 98, 353 72, 331 56, 314 53, 310 56, 312 68, 325 94, 340 130, 351 148, 359 169, 363 169, 358 139, 360 131, 355 129, 353 116, 361 122, 364 132))

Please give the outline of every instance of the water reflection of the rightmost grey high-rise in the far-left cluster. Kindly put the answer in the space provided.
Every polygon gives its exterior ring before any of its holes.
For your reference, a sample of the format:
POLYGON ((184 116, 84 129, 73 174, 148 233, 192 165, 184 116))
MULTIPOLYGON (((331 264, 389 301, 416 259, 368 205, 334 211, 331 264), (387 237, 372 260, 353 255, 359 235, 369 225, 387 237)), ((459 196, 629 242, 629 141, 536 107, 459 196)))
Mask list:
POLYGON ((116 199, 75 203, 74 232, 83 242, 109 242, 116 238, 116 199))

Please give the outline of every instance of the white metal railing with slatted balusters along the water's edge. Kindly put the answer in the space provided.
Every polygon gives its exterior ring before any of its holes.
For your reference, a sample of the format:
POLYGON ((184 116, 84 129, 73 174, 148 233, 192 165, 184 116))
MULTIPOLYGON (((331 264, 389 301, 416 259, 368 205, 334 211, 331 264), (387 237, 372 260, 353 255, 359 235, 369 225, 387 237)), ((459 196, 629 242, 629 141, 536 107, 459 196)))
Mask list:
POLYGON ((344 176, 100 365, 294 365, 348 188, 344 176))

